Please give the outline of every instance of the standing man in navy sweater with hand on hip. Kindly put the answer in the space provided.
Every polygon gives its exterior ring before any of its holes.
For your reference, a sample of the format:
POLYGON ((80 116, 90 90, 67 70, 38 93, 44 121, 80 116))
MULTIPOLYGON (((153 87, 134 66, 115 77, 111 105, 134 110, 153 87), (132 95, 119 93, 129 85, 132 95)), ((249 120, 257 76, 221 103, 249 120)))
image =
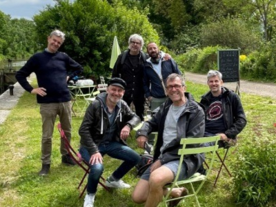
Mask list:
MULTIPOLYGON (((37 95, 42 118, 41 161, 39 175, 47 175, 50 170, 52 153, 52 133, 55 120, 59 115, 61 127, 68 141, 71 139, 71 97, 67 81, 79 75, 83 67, 63 52, 57 51, 65 39, 65 34, 54 30, 48 37, 48 46, 43 52, 34 54, 16 75, 17 81, 28 92, 37 95), (27 77, 34 72, 37 75, 38 88, 32 88, 27 77), (71 72, 71 73, 70 73, 71 72)), ((61 162, 75 165, 68 155, 61 139, 61 162)))

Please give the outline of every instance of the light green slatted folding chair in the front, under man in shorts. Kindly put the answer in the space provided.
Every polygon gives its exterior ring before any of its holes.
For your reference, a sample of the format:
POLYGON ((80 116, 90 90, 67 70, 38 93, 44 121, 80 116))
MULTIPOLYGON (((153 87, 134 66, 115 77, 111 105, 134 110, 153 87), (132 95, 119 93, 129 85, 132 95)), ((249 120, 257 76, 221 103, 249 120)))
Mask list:
POLYGON ((183 146, 181 149, 178 150, 178 155, 180 155, 179 168, 177 170, 177 175, 175 177, 175 180, 170 185, 170 189, 168 190, 166 197, 164 197, 164 199, 162 201, 162 204, 164 204, 164 206, 167 206, 168 201, 183 199, 184 197, 195 197, 195 199, 197 201, 197 206, 200 206, 199 201, 197 199, 197 194, 199 193, 199 190, 201 189, 201 187, 204 185, 204 182, 208 178, 208 176, 210 174, 210 170, 212 169, 213 161, 215 159, 215 152, 217 151, 217 148, 219 147, 217 145, 218 140, 219 140, 219 136, 202 137, 202 138, 182 138, 181 139, 180 144, 182 144, 183 146), (207 143, 210 141, 215 141, 215 146, 187 148, 187 146, 189 146, 190 144, 204 144, 204 143, 207 143), (193 176, 189 177, 188 179, 177 181, 179 174, 180 174, 184 155, 194 155, 194 154, 206 153, 206 152, 212 152, 212 155, 213 155, 213 158, 210 162, 207 174, 201 175, 199 172, 196 172, 193 176), (197 190, 195 190, 193 183, 197 182, 197 181, 201 181, 201 184, 197 187, 197 190), (184 184, 190 184, 190 188, 193 191, 192 194, 189 194, 189 195, 186 195, 183 197, 170 198, 170 199, 168 198, 170 196, 170 193, 172 192, 172 188, 174 188, 175 186, 177 186, 177 188, 179 188, 179 186, 184 185, 184 184))

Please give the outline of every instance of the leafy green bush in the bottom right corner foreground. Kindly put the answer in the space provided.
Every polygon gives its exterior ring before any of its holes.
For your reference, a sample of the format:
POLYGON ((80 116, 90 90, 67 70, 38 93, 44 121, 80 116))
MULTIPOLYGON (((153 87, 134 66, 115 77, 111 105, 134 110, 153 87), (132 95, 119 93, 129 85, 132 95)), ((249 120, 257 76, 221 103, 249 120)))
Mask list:
POLYGON ((262 132, 238 152, 233 166, 233 195, 240 204, 264 206, 276 190, 276 144, 262 132))

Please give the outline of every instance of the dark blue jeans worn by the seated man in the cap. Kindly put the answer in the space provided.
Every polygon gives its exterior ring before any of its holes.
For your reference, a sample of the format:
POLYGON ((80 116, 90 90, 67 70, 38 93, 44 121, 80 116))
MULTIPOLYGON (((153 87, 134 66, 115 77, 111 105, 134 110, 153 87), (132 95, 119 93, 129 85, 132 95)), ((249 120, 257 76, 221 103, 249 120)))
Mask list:
MULTIPOLYGON (((123 163, 112 173, 116 179, 121 179, 131 170, 141 159, 140 155, 128 146, 125 146, 117 141, 111 141, 108 144, 100 144, 98 150, 101 156, 108 155, 115 159, 123 160, 123 163)), ((91 155, 84 147, 79 149, 81 157, 89 163, 91 155)), ((88 175, 87 193, 96 193, 99 179, 103 173, 103 164, 95 164, 90 168, 88 175)))

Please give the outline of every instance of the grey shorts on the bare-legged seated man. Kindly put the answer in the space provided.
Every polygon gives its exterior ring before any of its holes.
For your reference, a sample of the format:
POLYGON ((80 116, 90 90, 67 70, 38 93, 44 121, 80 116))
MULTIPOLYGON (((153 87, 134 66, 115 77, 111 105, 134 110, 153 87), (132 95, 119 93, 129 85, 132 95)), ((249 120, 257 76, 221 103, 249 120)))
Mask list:
MULTIPOLYGON (((174 178, 177 176, 179 160, 170 161, 162 166, 166 166, 167 168, 172 170, 174 178)), ((187 177, 187 167, 186 167, 186 164, 184 162, 182 162, 181 171, 180 171, 178 180, 186 179, 186 177, 187 177)), ((150 179, 150 166, 148 167, 148 169, 146 169, 144 174, 141 176, 141 179, 144 179, 144 180, 150 179)))

